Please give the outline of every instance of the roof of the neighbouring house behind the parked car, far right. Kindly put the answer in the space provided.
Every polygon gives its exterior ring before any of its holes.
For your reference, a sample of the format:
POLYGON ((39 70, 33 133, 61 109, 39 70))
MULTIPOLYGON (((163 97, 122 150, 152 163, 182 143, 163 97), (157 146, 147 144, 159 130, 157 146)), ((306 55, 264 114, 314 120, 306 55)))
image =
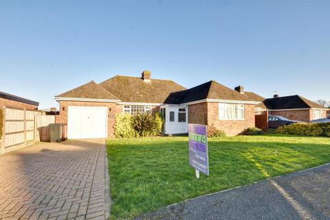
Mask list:
POLYGON ((265 105, 268 109, 325 109, 320 104, 303 98, 301 96, 283 96, 278 98, 267 98, 265 100, 265 105))

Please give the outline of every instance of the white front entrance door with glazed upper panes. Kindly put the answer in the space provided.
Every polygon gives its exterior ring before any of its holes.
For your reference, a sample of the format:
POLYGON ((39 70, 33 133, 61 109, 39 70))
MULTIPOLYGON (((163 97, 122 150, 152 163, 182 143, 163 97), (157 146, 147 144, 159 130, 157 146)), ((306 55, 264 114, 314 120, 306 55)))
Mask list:
POLYGON ((166 134, 188 133, 188 108, 166 107, 165 131, 166 134))

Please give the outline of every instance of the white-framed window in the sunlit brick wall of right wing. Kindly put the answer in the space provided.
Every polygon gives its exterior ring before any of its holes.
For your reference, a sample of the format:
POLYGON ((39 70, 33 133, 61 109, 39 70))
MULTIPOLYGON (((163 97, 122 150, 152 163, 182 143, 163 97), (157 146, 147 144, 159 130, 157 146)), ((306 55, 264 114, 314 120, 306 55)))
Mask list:
POLYGON ((219 120, 243 120, 244 104, 219 103, 219 120))

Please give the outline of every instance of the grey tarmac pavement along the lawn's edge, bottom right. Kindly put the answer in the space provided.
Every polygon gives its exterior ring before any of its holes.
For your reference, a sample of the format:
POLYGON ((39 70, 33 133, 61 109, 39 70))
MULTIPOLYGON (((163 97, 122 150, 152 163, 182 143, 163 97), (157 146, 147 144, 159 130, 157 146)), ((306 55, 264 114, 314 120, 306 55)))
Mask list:
POLYGON ((137 219, 330 219, 330 164, 190 199, 137 219))

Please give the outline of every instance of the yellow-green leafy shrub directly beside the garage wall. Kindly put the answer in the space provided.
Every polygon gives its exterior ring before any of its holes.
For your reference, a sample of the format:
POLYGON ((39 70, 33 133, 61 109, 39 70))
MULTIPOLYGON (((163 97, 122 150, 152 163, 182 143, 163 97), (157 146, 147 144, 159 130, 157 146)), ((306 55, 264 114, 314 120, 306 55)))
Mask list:
POLYGON ((115 116, 115 137, 137 137, 132 115, 120 113, 115 116))

